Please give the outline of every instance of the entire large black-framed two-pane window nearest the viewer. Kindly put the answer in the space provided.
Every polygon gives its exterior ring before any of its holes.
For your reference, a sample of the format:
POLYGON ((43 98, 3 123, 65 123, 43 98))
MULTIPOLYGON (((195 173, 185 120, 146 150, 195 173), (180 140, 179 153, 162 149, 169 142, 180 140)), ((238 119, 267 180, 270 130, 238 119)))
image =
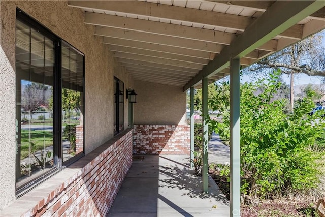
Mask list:
POLYGON ((16 189, 84 155, 84 55, 17 9, 16 189))

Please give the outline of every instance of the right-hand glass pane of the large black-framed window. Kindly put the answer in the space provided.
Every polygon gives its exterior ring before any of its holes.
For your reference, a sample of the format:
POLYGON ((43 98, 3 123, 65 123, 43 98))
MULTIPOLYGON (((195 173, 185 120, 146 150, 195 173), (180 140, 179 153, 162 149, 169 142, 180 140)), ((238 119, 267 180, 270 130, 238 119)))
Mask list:
POLYGON ((83 152, 84 57, 62 42, 62 152, 63 162, 83 152))

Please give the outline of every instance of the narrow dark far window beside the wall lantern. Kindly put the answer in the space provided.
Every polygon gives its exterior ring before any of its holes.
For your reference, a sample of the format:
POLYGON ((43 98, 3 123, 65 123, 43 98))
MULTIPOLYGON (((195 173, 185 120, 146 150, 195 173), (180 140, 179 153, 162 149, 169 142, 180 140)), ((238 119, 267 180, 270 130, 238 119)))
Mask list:
POLYGON ((124 83, 114 77, 114 135, 124 130, 124 83))

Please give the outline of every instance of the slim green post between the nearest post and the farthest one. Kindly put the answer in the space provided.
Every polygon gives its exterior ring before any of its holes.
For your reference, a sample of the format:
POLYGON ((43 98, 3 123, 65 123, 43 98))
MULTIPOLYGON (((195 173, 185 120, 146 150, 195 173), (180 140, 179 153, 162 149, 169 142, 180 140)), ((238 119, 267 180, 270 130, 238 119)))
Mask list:
POLYGON ((203 181, 203 193, 208 193, 208 176, 209 176, 209 165, 208 165, 208 123, 206 117, 208 115, 208 78, 202 79, 202 181, 203 181))

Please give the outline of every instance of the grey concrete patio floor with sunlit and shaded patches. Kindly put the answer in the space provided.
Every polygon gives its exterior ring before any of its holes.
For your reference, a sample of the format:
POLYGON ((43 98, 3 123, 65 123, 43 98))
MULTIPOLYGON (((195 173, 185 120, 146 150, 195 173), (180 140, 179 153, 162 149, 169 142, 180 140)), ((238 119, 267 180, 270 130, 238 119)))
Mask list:
POLYGON ((107 216, 229 216, 230 203, 209 177, 189 169, 187 156, 145 155, 134 160, 107 216))

